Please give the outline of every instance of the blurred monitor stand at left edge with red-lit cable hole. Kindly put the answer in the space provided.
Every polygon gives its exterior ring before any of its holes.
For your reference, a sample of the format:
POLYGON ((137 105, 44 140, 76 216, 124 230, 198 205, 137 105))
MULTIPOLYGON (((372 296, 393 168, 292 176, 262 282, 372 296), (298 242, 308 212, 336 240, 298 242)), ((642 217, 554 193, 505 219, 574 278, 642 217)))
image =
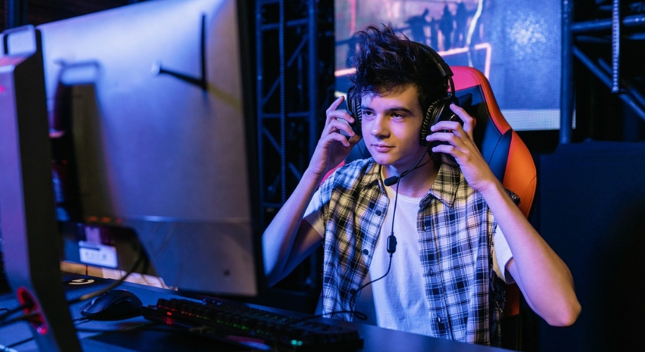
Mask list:
POLYGON ((81 351, 59 264, 42 42, 32 26, 0 34, 0 236, 8 282, 39 351, 81 351))

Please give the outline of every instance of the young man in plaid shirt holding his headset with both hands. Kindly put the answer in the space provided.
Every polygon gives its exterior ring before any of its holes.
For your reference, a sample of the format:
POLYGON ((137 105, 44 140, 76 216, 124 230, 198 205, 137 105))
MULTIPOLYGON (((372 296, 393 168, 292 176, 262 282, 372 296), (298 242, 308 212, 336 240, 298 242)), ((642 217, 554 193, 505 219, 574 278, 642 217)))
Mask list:
POLYGON ((338 110, 342 97, 327 110, 307 170, 263 235, 269 282, 323 244, 332 318, 361 312, 382 327, 498 345, 503 282, 514 280, 546 322, 571 325, 580 303, 570 272, 482 158, 473 118, 449 104, 463 126, 423 131, 448 95, 436 55, 389 26, 358 33, 356 119, 338 110), (323 182, 361 135, 372 158, 323 182))

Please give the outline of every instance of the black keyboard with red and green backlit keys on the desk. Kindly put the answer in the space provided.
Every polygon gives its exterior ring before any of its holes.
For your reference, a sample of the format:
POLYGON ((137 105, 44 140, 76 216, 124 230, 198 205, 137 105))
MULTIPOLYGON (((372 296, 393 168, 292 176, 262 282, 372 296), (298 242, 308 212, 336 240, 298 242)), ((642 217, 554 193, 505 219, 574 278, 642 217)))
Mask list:
POLYGON ((349 352, 363 348, 363 339, 356 329, 294 318, 234 301, 160 298, 156 306, 144 306, 142 313, 147 320, 260 350, 349 352))

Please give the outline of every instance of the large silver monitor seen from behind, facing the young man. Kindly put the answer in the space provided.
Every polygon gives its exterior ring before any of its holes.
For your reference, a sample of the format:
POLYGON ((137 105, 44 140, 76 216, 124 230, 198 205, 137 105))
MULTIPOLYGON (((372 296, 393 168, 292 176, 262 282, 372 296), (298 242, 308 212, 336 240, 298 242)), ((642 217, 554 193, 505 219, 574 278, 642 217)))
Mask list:
POLYGON ((162 0, 38 27, 68 260, 120 268, 104 232, 134 233, 170 287, 258 294, 237 21, 235 0, 162 0))

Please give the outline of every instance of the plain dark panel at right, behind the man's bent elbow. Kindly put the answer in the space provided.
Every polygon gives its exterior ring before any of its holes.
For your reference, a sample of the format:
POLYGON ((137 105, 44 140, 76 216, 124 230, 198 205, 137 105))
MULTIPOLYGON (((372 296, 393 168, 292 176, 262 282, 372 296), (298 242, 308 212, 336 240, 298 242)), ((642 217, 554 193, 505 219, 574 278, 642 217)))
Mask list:
POLYGON ((581 142, 539 157, 539 227, 573 274, 582 313, 541 322, 541 351, 642 351, 645 143, 581 142))

